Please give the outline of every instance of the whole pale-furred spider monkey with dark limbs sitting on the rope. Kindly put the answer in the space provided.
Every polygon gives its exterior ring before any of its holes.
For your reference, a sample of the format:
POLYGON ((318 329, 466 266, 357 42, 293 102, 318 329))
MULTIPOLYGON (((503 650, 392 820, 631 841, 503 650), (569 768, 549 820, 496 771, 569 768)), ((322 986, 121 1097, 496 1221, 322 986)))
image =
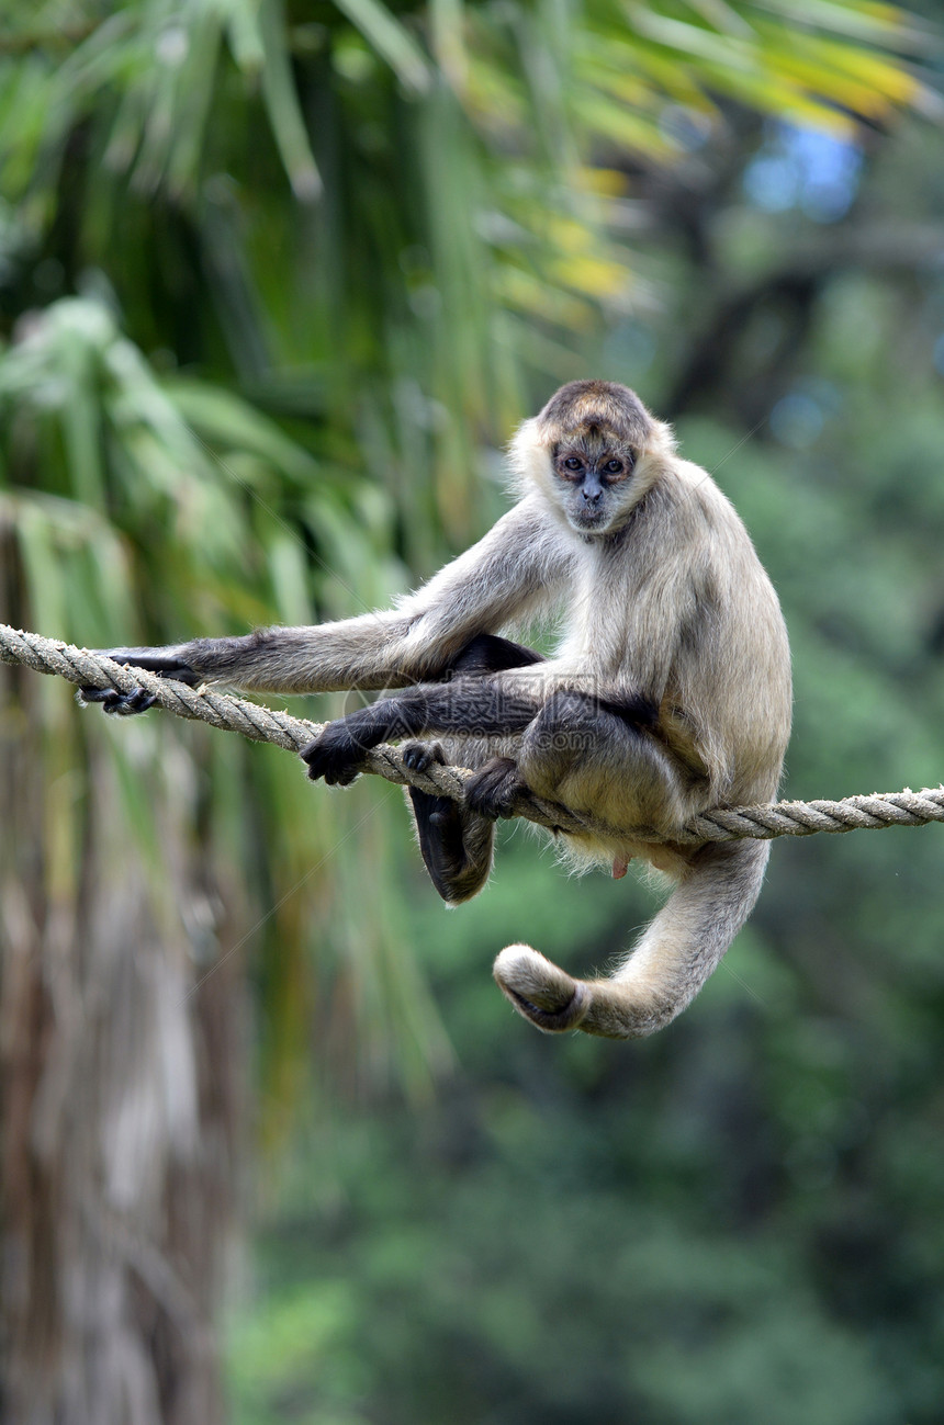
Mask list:
MULTIPOLYGON (((415 770, 476 768, 465 805, 409 788, 426 869, 452 905, 488 881, 495 821, 522 788, 612 828, 560 842, 582 868, 619 876, 637 856, 676 884, 633 950, 612 976, 575 980, 512 945, 495 978, 540 1029, 636 1037, 690 1003, 760 892, 766 842, 673 834, 709 807, 774 795, 787 633, 733 507, 626 386, 562 386, 513 437, 511 469, 513 509, 394 610, 111 657, 191 684, 405 690, 328 724, 301 755, 312 779, 341 785, 391 738, 415 770), (552 657, 501 636, 550 608, 563 611, 552 657)), ((143 690, 86 697, 118 714, 150 705, 143 690)))

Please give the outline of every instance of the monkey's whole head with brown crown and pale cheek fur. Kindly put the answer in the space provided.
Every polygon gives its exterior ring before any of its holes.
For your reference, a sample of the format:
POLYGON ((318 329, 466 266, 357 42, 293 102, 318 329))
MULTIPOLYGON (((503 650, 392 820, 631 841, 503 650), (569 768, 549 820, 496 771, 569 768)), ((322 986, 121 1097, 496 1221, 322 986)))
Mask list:
POLYGON ((669 426, 610 380, 572 380, 526 420, 512 466, 535 482, 579 534, 609 534, 629 517, 672 453, 669 426))

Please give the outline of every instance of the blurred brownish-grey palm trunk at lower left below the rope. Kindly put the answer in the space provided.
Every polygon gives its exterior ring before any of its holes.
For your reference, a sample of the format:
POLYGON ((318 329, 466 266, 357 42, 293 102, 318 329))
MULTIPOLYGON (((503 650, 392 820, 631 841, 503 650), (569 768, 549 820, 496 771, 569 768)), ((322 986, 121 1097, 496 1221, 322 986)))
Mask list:
POLYGON ((50 778, 46 680, 1 680, 0 1419, 214 1425, 245 1046, 238 956, 207 975, 194 946, 227 945, 222 899, 168 808, 145 807, 174 864, 167 895, 184 901, 155 912, 140 851, 127 832, 116 844, 96 738, 87 779, 76 765, 50 778))

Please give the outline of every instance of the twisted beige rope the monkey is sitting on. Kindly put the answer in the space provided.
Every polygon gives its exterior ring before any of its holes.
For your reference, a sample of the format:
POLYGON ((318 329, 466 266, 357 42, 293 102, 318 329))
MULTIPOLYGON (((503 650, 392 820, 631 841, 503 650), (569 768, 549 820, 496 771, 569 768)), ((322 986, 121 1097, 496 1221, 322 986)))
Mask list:
MULTIPOLYGON (((255 742, 275 742, 289 752, 301 752, 302 747, 318 737, 324 724, 307 718, 295 718, 288 712, 235 698, 228 693, 214 693, 212 688, 190 688, 184 683, 161 678, 145 668, 134 668, 114 663, 100 653, 88 653, 71 644, 53 638, 41 638, 36 633, 24 633, 0 624, 0 661, 23 664, 36 673, 53 673, 70 683, 90 688, 117 688, 120 693, 134 693, 147 688, 157 703, 177 717, 197 718, 211 727, 241 732, 255 742)), ((465 784, 472 772, 465 767, 431 767, 425 772, 414 772, 404 765, 401 754, 394 747, 376 747, 366 757, 364 768, 389 782, 418 787, 421 791, 462 801, 465 784)), ((555 802, 543 801, 530 794, 516 798, 515 817, 525 817, 539 826, 558 831, 603 832, 613 835, 612 828, 590 817, 576 815, 555 802)), ((673 841, 697 845, 704 841, 770 841, 774 836, 813 836, 820 831, 880 831, 884 826, 925 826, 933 821, 944 821, 944 787, 925 788, 913 792, 873 792, 867 797, 844 797, 841 801, 784 801, 761 807, 719 807, 694 817, 673 841)), ((623 831, 625 835, 625 831, 623 831)), ((637 841, 659 841, 660 838, 633 831, 637 841)))

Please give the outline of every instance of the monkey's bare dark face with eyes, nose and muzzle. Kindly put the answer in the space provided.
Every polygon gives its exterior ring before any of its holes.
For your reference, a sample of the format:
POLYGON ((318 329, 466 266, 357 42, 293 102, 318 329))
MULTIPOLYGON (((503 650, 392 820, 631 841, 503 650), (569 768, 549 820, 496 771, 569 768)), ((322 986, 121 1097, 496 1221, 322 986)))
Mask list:
POLYGON ((550 449, 555 494, 572 529, 606 534, 639 499, 636 450, 616 432, 588 425, 565 432, 550 449))

